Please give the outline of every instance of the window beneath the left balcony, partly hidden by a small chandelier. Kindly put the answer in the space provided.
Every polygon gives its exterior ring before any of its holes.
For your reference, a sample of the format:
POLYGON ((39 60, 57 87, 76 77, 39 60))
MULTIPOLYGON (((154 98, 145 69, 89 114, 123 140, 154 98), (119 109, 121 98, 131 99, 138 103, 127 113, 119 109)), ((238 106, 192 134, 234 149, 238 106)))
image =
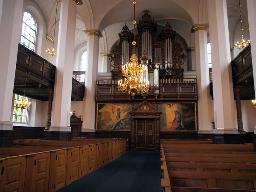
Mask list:
MULTIPOLYGON (((17 102, 22 101, 23 96, 22 95, 16 95, 14 98, 14 108, 13 108, 13 122, 22 122, 22 123, 27 123, 28 122, 28 116, 29 116, 29 109, 28 107, 26 108, 18 108, 17 102)), ((30 98, 25 97, 25 99, 29 102, 30 98)))

